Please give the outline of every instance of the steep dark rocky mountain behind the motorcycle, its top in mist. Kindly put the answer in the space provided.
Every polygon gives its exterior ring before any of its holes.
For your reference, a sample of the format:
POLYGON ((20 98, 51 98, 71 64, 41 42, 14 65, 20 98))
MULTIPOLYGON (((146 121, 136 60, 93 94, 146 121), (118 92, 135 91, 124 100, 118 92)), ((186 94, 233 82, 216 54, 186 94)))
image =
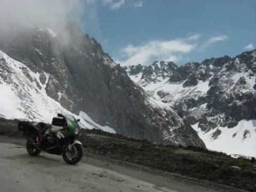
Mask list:
POLYGON ((171 107, 135 84, 70 19, 60 26, 14 22, 0 30, 0 114, 50 122, 58 112, 84 127, 172 145, 205 147, 171 107))

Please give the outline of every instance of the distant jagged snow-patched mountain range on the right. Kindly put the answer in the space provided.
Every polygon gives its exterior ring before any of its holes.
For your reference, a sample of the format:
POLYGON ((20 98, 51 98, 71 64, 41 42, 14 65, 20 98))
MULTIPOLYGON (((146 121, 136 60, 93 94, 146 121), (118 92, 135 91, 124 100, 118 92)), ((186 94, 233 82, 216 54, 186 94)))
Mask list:
POLYGON ((133 81, 171 106, 207 148, 255 156, 256 50, 188 62, 125 67, 133 81))

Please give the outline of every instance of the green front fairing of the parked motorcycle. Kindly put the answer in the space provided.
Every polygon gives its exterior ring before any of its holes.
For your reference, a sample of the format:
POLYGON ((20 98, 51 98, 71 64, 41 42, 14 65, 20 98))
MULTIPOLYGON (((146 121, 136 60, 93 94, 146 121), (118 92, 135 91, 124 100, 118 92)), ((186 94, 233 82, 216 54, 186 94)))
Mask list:
MULTIPOLYGON (((67 121, 67 127, 63 128, 63 129, 60 129, 60 130, 53 130, 52 133, 54 133, 56 136, 57 136, 57 133, 60 132, 62 133, 65 137, 69 137, 69 136, 72 136, 72 135, 75 135, 74 132, 75 132, 75 129, 81 129, 81 127, 79 126, 78 123, 75 122, 74 119, 71 119, 70 117, 68 117, 67 115, 64 115, 64 118, 66 119, 67 121), (68 131, 66 131, 68 130, 68 131)), ((58 136, 57 136, 58 137, 58 136)))

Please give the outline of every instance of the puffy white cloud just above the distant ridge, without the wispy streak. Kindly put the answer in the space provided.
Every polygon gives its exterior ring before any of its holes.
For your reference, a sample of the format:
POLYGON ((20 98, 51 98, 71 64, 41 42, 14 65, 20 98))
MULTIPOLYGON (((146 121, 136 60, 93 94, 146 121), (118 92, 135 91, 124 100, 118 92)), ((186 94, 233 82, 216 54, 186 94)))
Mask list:
POLYGON ((174 39, 170 41, 149 41, 148 43, 134 46, 127 45, 121 50, 121 57, 117 62, 122 66, 149 65, 154 60, 178 61, 181 55, 188 53, 196 45, 187 43, 185 39, 174 39))

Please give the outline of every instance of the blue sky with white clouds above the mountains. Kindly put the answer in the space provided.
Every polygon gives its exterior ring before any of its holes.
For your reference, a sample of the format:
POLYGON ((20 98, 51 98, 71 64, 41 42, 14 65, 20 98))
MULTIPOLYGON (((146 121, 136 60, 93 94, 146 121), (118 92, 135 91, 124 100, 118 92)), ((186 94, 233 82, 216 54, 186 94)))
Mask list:
POLYGON ((188 61, 256 47, 256 1, 85 0, 79 25, 122 66, 188 61))

